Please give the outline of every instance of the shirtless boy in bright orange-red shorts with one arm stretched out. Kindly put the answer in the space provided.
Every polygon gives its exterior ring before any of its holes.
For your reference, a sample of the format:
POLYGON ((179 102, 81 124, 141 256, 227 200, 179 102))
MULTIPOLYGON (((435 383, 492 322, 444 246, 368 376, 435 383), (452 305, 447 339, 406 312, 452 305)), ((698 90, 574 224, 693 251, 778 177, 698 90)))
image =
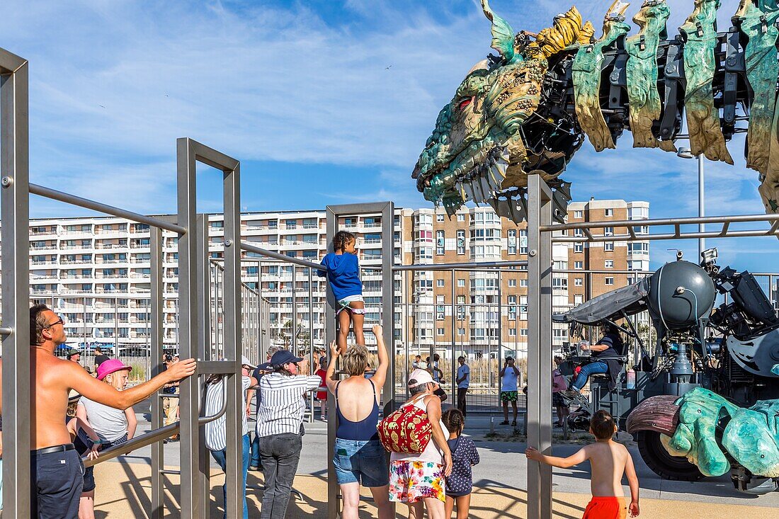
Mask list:
POLYGON ((624 519, 626 517, 625 494, 622 493, 622 474, 630 485, 630 517, 639 514, 638 478, 633 458, 622 443, 612 441, 617 425, 612 415, 597 411, 590 421, 590 434, 596 443, 587 445, 569 457, 545 456, 533 447, 527 447, 525 455, 531 460, 550 464, 552 467, 569 468, 590 460, 592 500, 584 510, 582 519, 624 519))

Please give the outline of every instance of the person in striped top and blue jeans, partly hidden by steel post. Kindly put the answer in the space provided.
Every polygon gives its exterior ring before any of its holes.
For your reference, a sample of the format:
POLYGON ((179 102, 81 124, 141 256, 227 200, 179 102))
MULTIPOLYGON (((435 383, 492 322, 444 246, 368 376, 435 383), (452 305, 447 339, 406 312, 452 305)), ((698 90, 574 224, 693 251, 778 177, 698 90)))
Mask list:
MULTIPOLYGON (((257 380, 249 376, 249 370, 254 366, 249 363, 249 358, 241 357, 241 376, 244 394, 249 387, 257 385, 257 380)), ((206 379, 206 416, 216 415, 221 411, 224 405, 224 375, 211 375, 206 379)), ((251 454, 249 446, 249 424, 246 418, 249 415, 246 411, 243 415, 243 431, 241 432, 241 495, 243 496, 243 517, 249 519, 249 509, 246 507, 246 472, 249 471, 249 459, 251 454)), ((213 422, 206 424, 206 448, 211 451, 211 456, 222 470, 227 470, 227 418, 222 415, 213 422)), ((231 447, 238 447, 231 446, 231 447)), ((224 517, 227 517, 227 482, 222 486, 222 495, 224 496, 224 517)))

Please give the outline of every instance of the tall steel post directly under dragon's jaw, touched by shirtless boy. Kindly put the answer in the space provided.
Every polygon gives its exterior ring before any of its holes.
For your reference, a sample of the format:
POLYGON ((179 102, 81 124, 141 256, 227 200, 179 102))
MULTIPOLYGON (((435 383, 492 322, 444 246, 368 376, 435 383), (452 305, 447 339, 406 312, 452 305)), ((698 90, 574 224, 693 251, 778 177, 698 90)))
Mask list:
MULTIPOLYGON (((528 178, 527 444, 552 454, 552 192, 528 178)), ((527 517, 552 519, 552 468, 527 460, 527 517)))

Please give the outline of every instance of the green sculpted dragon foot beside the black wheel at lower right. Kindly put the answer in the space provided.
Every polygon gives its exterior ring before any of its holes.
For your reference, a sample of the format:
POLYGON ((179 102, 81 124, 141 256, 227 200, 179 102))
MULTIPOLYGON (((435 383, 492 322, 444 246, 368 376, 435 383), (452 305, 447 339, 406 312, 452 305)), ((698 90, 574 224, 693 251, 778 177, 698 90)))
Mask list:
POLYGON ((698 387, 676 404, 679 425, 673 436, 661 436, 669 454, 687 457, 707 476, 728 472, 730 456, 755 475, 779 477, 779 401, 739 408, 698 387))

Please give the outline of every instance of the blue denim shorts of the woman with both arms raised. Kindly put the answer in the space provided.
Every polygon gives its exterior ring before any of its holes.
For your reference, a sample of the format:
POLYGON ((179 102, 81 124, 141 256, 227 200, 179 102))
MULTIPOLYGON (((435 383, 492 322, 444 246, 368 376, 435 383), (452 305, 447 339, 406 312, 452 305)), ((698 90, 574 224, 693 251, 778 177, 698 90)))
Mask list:
POLYGON ((376 487, 390 484, 386 451, 379 440, 341 440, 336 438, 333 465, 339 485, 359 483, 376 487))

